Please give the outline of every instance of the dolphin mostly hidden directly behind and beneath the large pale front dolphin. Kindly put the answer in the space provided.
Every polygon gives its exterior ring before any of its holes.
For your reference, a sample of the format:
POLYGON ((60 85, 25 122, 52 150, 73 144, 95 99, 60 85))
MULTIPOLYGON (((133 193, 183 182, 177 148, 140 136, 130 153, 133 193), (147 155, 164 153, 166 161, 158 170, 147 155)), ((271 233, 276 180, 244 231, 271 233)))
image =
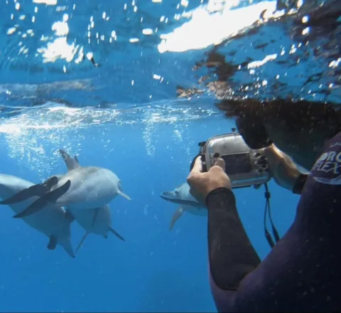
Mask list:
MULTIPOLYGON (((77 157, 70 157, 64 150, 59 150, 60 154, 62 155, 65 165, 67 166, 68 171, 72 171, 80 166, 77 157)), ((60 178, 62 175, 56 175, 60 178)), ((90 233, 94 233, 96 235, 102 235, 104 238, 108 238, 108 232, 110 231, 117 238, 124 240, 124 238, 117 233, 116 230, 112 228, 112 216, 110 212, 109 205, 106 204, 100 208, 93 208, 89 210, 77 210, 74 208, 67 208, 72 216, 75 217, 77 223, 85 229, 85 235, 82 237, 80 244, 78 245, 75 253, 80 249, 84 240, 87 238, 87 235, 90 233)), ((124 240, 125 241, 125 240, 124 240)))

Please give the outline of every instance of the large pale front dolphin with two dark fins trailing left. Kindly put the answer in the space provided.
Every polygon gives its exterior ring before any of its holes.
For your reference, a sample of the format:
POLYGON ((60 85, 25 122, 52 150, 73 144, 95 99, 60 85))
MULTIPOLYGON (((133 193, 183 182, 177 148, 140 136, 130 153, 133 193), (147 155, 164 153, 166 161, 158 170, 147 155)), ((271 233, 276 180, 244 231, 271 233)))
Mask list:
MULTIPOLYGON (((60 153, 63 155, 63 150, 60 153)), ((14 218, 23 218, 40 211, 48 203, 67 206, 69 209, 75 210, 91 210, 104 206, 117 195, 131 200, 121 190, 121 181, 117 175, 109 169, 97 166, 77 166, 67 171, 65 175, 58 177, 57 180, 52 177, 44 184, 48 184, 48 187, 53 185, 50 192, 42 193, 40 191, 41 184, 38 184, 30 192, 25 191, 24 196, 14 195, 5 201, 0 201, 0 204, 16 203, 31 196, 39 196, 30 206, 14 216, 14 218), (36 191, 39 192, 36 193, 36 191)), ((43 190, 46 190, 45 185, 43 190)))

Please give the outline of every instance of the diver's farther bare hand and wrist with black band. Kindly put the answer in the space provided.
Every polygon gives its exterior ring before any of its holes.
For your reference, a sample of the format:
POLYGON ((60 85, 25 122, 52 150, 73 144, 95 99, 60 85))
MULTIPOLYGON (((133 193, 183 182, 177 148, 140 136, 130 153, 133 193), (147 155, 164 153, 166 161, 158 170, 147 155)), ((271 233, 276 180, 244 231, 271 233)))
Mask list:
POLYGON ((264 157, 269 160, 271 172, 276 183, 293 193, 302 192, 308 174, 302 174, 288 155, 274 144, 264 149, 264 157))

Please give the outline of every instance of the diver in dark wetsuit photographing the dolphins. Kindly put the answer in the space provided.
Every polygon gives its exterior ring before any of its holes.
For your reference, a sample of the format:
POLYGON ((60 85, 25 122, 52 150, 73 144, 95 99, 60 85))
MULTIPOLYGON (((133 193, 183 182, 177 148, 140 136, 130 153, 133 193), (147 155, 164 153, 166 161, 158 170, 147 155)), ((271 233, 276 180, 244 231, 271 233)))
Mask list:
POLYGON ((217 310, 340 312, 340 111, 324 103, 250 101, 228 101, 220 108, 237 117, 251 149, 267 150, 277 184, 301 198, 291 227, 261 261, 239 218, 224 160, 203 172, 200 157, 195 159, 188 184, 208 210, 210 285, 217 310), (291 159, 310 173, 298 171, 291 159))

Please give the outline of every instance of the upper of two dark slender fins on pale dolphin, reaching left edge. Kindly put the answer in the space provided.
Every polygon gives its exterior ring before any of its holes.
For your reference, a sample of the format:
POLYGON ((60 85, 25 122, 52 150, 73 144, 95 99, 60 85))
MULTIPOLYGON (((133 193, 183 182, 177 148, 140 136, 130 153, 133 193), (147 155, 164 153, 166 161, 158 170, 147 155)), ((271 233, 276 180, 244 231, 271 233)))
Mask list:
POLYGON ((25 201, 28 198, 33 196, 44 196, 45 193, 48 193, 50 189, 58 183, 58 178, 56 176, 50 177, 47 181, 44 181, 42 184, 36 184, 27 189, 23 189, 13 196, 6 198, 4 201, 0 201, 0 204, 13 204, 21 201, 25 201))

